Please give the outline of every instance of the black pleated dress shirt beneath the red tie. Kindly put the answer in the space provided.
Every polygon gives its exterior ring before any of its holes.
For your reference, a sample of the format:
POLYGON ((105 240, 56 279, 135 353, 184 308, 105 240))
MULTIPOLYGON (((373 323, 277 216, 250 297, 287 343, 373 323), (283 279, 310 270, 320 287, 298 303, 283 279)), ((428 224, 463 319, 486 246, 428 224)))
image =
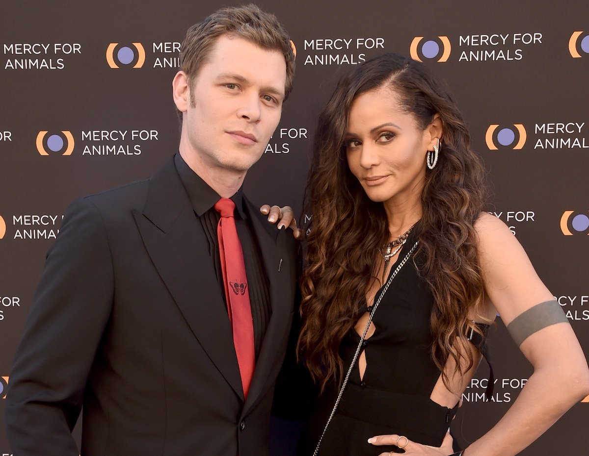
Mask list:
MULTIPOLYGON (((225 309, 227 310, 223 270, 221 269, 221 259, 219 256, 219 240, 217 239, 217 224, 219 224, 221 216, 214 208, 215 203, 221 197, 196 172, 188 167, 184 159, 180 157, 180 154, 176 154, 174 163, 176 164, 178 175, 180 175, 180 180, 188 194, 188 199, 192 203, 194 214, 200 220, 204 234, 209 241, 210 261, 214 264, 219 292, 223 297, 225 309)), ((262 265, 257 239, 254 236, 251 226, 251 219, 249 214, 247 214, 246 205, 243 204, 243 192, 241 188, 231 199, 236 207, 235 224, 237 227, 237 236, 241 241, 243 259, 246 265, 247 285, 250 304, 252 305, 254 348, 257 361, 257 357, 260 354, 260 347, 262 347, 262 341, 266 334, 266 328, 272 315, 269 284, 262 265)))

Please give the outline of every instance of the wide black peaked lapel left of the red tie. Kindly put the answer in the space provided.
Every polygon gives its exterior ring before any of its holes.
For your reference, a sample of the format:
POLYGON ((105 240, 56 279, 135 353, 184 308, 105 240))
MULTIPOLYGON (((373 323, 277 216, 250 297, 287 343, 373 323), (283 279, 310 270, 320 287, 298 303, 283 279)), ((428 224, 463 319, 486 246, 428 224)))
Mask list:
POLYGON ((233 336, 203 228, 173 159, 150 179, 143 214, 134 212, 147 252, 198 342, 243 400, 233 336))

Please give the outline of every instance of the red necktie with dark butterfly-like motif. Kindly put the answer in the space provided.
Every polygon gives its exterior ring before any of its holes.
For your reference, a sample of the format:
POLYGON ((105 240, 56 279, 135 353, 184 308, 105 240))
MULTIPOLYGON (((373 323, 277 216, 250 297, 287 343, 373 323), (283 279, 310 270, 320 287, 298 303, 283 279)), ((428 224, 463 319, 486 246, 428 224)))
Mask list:
POLYGON ((221 269, 225 282, 229 322, 233 329, 233 344, 243 385, 243 397, 246 398, 256 364, 254 325, 250 294, 247 289, 246 265, 233 217, 235 203, 229 198, 221 198, 215 204, 215 210, 221 214, 219 225, 217 225, 221 269))

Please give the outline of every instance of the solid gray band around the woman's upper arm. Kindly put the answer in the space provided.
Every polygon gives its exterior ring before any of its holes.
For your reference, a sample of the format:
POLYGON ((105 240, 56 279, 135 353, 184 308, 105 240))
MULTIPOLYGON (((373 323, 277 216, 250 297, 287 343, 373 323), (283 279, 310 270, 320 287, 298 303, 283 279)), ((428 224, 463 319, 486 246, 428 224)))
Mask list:
POLYGON ((568 323, 568 318, 558 302, 546 301, 531 307, 519 314, 507 325, 507 330, 519 347, 525 339, 547 326, 557 323, 568 323))

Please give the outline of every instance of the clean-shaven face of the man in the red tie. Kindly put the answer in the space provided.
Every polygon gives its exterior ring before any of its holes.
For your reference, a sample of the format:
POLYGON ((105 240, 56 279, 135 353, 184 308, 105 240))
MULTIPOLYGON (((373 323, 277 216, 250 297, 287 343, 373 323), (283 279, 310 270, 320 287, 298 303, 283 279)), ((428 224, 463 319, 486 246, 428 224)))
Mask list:
POLYGON ((178 107, 191 159, 211 171, 252 167, 280 121, 285 81, 280 52, 221 36, 191 81, 188 103, 178 107))

